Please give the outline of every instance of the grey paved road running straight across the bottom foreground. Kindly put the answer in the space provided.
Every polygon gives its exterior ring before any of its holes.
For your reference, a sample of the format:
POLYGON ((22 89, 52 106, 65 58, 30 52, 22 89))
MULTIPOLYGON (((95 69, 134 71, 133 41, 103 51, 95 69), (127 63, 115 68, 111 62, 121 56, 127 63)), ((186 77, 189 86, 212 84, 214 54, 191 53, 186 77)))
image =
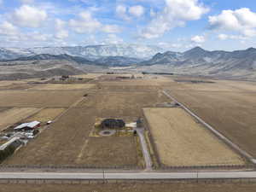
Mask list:
POLYGON ((1 179, 204 179, 256 178, 256 172, 1 172, 1 179))

